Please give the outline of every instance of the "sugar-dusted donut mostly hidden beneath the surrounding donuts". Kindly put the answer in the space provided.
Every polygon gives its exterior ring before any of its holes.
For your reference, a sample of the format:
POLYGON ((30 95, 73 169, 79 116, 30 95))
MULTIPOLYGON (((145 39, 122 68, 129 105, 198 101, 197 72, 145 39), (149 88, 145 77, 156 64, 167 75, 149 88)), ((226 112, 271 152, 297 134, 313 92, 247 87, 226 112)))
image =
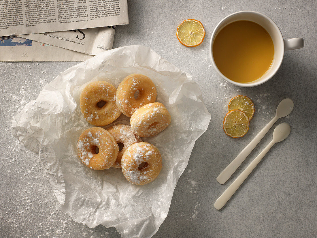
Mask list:
POLYGON ((121 168, 121 158, 123 153, 128 149, 128 147, 134 143, 142 142, 141 137, 134 134, 133 130, 130 126, 124 124, 114 125, 112 127, 107 128, 107 131, 113 136, 114 140, 117 143, 122 143, 123 148, 120 150, 117 156, 116 161, 114 162, 114 168, 121 168))

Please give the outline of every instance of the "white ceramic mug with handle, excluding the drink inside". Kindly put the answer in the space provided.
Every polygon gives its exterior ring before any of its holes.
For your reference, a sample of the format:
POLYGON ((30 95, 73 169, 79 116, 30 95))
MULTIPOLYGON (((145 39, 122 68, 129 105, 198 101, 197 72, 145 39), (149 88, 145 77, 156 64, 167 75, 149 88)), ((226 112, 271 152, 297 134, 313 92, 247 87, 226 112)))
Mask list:
POLYGON ((216 26, 215 30, 212 32, 210 45, 209 45, 209 57, 211 60, 211 64, 216 70, 216 72, 227 82, 232 83, 236 86, 240 87, 253 87, 265 83, 268 81, 277 70, 280 68, 285 50, 295 50, 304 47, 304 39, 303 38, 292 38, 284 40, 280 29, 277 25, 267 16, 263 15, 262 13, 256 11, 239 11, 230 14, 229 16, 223 18, 218 25, 216 26), (273 44, 274 44, 274 58, 270 68, 267 72, 262 75, 260 78, 256 79, 255 81, 249 83, 237 83, 235 81, 230 80, 223 73, 218 69, 213 54, 212 54, 212 46, 217 36, 218 32, 223 29, 226 25, 236 22, 236 21, 251 21, 261 25, 265 30, 267 30, 268 34, 270 34, 273 44))

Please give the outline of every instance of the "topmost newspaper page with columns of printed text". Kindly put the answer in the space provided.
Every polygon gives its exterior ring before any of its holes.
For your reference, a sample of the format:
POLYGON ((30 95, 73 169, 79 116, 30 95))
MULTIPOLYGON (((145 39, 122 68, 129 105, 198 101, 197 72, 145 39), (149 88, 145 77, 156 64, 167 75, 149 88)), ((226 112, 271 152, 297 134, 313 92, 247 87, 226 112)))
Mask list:
POLYGON ((129 24, 127 0, 1 0, 0 36, 129 24))

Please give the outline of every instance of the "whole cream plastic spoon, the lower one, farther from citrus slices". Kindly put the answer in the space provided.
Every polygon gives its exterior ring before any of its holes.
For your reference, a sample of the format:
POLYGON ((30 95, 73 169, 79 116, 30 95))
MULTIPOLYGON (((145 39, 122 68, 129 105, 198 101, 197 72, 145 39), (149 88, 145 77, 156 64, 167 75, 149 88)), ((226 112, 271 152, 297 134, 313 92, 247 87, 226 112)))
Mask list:
POLYGON ((231 185, 223 192, 223 194, 217 199, 215 202, 215 208, 221 209, 224 204, 228 202, 230 197, 236 192, 236 190, 240 187, 240 185, 244 182, 244 180, 249 176, 252 170, 256 167, 256 165, 262 160, 264 155, 268 153, 269 149, 277 143, 285 140, 289 133, 291 132, 291 127, 287 123, 279 124, 275 127, 273 132, 273 140, 265 147, 262 152, 256 156, 256 158, 248 165, 246 169, 236 178, 235 181, 231 183, 231 185))

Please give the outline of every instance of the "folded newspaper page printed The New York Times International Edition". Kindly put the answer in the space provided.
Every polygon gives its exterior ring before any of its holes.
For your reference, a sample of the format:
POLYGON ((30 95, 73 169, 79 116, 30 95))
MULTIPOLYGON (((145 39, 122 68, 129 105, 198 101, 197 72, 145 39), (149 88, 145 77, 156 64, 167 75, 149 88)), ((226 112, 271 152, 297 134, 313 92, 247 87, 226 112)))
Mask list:
POLYGON ((115 29, 115 26, 106 26, 90 29, 19 35, 19 37, 47 43, 68 50, 78 51, 88 55, 97 55, 102 51, 112 49, 115 29))

